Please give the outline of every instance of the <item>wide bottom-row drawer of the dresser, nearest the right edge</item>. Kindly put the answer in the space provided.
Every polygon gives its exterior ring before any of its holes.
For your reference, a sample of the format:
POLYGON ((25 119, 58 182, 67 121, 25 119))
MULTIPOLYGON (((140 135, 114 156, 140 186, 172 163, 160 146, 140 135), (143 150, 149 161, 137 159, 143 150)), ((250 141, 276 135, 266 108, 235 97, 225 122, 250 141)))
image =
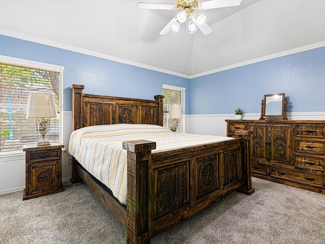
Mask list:
POLYGON ((271 167, 271 176, 312 186, 323 186, 324 184, 324 176, 322 175, 307 174, 277 167, 271 167))

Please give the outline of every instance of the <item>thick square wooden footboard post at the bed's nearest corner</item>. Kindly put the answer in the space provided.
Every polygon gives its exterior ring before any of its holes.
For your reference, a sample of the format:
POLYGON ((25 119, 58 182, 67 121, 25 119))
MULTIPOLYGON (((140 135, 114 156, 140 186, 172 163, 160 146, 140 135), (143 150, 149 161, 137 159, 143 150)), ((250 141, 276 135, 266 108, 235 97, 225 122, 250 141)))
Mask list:
POLYGON ((127 150, 126 239, 129 244, 151 243, 149 165, 156 143, 146 140, 123 142, 127 150))

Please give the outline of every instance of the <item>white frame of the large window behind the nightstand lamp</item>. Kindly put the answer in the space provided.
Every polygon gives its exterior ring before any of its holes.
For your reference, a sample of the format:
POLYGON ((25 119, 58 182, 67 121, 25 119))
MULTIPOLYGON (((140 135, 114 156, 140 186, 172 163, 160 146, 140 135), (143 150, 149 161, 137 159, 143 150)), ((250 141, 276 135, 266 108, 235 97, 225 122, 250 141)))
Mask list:
MULTIPOLYGON (((48 63, 36 62, 33 60, 28 60, 28 59, 4 56, 4 55, 0 55, 0 62, 6 63, 8 65, 13 65, 13 66, 24 66, 24 67, 28 67, 30 69, 42 69, 42 70, 60 73, 61 88, 60 88, 60 94, 59 94, 59 104, 58 104, 58 106, 56 106, 56 109, 59 109, 59 113, 57 115, 59 118, 59 142, 62 143, 62 141, 63 141, 62 104, 63 104, 63 70, 64 70, 64 67, 58 66, 58 65, 53 65, 53 64, 48 64, 48 63)), ((7 157, 19 157, 20 155, 25 155, 25 153, 22 150, 3 151, 0 153, 0 162, 6 161, 7 157)))

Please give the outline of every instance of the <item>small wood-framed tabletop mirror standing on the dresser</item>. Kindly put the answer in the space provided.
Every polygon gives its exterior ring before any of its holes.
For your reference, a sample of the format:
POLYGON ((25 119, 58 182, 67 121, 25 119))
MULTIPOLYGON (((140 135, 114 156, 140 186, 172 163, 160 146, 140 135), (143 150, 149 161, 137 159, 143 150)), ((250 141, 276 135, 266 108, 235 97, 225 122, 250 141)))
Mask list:
POLYGON ((259 119, 287 119, 284 93, 264 95, 259 119))

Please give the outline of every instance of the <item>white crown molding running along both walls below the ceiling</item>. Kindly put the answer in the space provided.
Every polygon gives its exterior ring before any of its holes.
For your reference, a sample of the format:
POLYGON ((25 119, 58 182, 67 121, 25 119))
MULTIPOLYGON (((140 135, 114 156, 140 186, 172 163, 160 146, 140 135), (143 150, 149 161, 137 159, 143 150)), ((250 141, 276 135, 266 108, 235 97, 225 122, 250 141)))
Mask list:
POLYGON ((123 58, 119 58, 119 57, 115 57, 115 56, 111 56, 111 55, 107 55, 107 54, 103 54, 103 53, 99 53, 99 52, 94 52, 94 51, 84 49, 84 48, 79 48, 79 47, 68 45, 68 44, 63 44, 63 43, 59 43, 59 42, 50 41, 50 40, 47 40, 47 39, 44 39, 44 38, 39 38, 39 37, 30 36, 30 35, 23 34, 23 33, 10 31, 9 29, 0 28, 0 35, 9 36, 9 37, 13 37, 13 38, 18 38, 18 39, 22 39, 22 40, 30 41, 30 42, 36 42, 36 43, 39 43, 39 44, 44 44, 44 45, 48 45, 48 46, 52 46, 52 47, 57 47, 57 48, 61 48, 61 49, 64 49, 64 50, 78 52, 78 53, 82 53, 82 54, 86 54, 86 55, 90 55, 90 56, 100 57, 100 58, 103 58, 103 59, 112 60, 112 61, 117 62, 117 63, 132 65, 132 66, 135 66, 135 67, 148 69, 148 70, 153 70, 153 71, 157 71, 157 72, 161 72, 161 73, 165 73, 165 74, 175 75, 175 76, 183 77, 183 78, 186 78, 186 79, 192 79, 192 78, 197 78, 197 77, 200 77, 200 76, 210 75, 210 74, 213 74, 213 73, 218 73, 218 72, 221 72, 221 71, 230 70, 230 69, 238 68, 238 67, 241 67, 241 66, 250 65, 250 64, 262 62, 262 61, 265 61, 265 60, 269 60, 269 59, 273 59, 273 58, 277 58, 277 57, 282 57, 282 56, 286 56, 286 55, 290 55, 290 54, 294 54, 294 53, 304 52, 304 51, 308 51, 308 50, 311 50, 311 49, 315 49, 315 48, 325 46, 325 41, 321 41, 321 42, 305 45, 305 46, 302 46, 302 47, 289 49, 289 50, 286 50, 286 51, 283 51, 283 52, 277 52, 277 53, 274 53, 274 54, 271 54, 271 55, 250 59, 250 60, 247 60, 245 62, 237 63, 237 64, 234 64, 234 65, 224 66, 224 67, 221 67, 221 68, 218 68, 218 69, 209 70, 209 71, 194 74, 194 75, 186 75, 186 74, 182 74, 182 73, 178 73, 178 72, 174 72, 174 71, 170 71, 170 70, 166 70, 166 69, 161 69, 161 68, 150 66, 150 65, 145 65, 145 64, 133 62, 131 60, 127 60, 127 59, 123 59, 123 58))

